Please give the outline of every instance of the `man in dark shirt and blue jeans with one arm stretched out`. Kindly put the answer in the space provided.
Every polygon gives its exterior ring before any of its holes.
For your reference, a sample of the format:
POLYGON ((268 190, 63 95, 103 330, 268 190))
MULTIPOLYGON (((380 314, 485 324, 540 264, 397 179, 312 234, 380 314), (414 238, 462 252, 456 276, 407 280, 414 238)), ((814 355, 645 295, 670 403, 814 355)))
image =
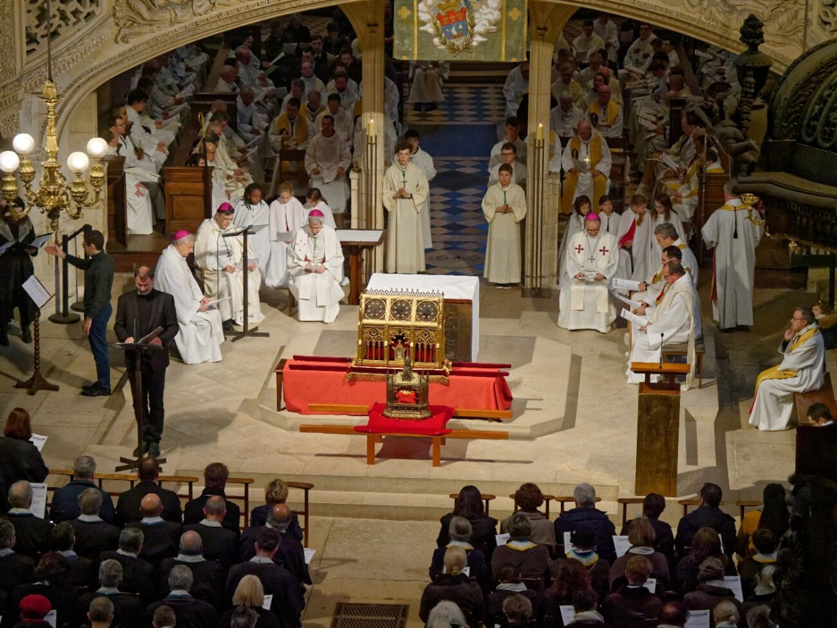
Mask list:
POLYGON ((49 255, 85 271, 85 322, 82 329, 90 341, 90 350, 96 363, 96 381, 82 386, 85 397, 103 397, 110 394, 110 358, 108 356, 107 322, 113 312, 110 305, 110 289, 113 287, 113 258, 105 253, 105 236, 101 231, 85 232, 81 243, 87 259, 67 255, 56 245, 44 248, 49 255))

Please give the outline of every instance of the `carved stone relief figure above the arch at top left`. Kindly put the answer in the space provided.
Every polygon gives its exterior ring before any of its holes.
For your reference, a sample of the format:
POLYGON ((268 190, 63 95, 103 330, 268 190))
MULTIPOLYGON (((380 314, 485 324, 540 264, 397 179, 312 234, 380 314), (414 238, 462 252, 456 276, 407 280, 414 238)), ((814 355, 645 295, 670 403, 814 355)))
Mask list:
POLYGON ((199 18, 231 3, 232 0, 116 0, 116 43, 127 44, 141 35, 158 33, 162 28, 199 18))

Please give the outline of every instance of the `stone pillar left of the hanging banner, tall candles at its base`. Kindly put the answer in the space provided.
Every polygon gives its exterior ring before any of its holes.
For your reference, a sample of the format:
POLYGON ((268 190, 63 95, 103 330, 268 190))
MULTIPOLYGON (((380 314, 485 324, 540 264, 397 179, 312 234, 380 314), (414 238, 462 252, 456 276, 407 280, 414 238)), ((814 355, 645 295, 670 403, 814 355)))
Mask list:
MULTIPOLYGON (((341 10, 352 23, 357 33, 358 45, 361 49, 363 79, 361 85, 362 98, 362 127, 366 131, 362 141, 367 142, 364 147, 364 162, 358 181, 358 205, 352 207, 352 229, 383 229, 383 203, 381 190, 383 188, 383 68, 386 62, 383 50, 383 7, 386 0, 366 0, 361 3, 346 3, 341 10), (369 122, 374 121, 375 147, 369 154, 371 137, 368 134, 369 122), (369 157, 372 157, 371 159, 369 157)), ((369 273, 383 271, 383 247, 372 250, 364 262, 365 277, 369 273)))

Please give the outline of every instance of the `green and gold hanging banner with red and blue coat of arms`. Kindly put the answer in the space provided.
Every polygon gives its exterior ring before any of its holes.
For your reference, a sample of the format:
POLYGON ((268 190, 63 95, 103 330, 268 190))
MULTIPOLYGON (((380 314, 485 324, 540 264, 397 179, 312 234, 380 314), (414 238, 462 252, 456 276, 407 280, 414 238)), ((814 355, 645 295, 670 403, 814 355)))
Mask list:
POLYGON ((394 9, 395 59, 526 58, 526 0, 396 0, 394 9))

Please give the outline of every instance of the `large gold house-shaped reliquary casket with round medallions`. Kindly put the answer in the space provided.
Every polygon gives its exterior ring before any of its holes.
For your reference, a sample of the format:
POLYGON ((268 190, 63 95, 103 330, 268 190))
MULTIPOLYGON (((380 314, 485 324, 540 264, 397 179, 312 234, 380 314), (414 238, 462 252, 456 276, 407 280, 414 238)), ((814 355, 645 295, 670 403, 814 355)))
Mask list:
POLYGON ((354 366, 447 370, 444 295, 439 291, 366 291, 361 294, 354 366))

